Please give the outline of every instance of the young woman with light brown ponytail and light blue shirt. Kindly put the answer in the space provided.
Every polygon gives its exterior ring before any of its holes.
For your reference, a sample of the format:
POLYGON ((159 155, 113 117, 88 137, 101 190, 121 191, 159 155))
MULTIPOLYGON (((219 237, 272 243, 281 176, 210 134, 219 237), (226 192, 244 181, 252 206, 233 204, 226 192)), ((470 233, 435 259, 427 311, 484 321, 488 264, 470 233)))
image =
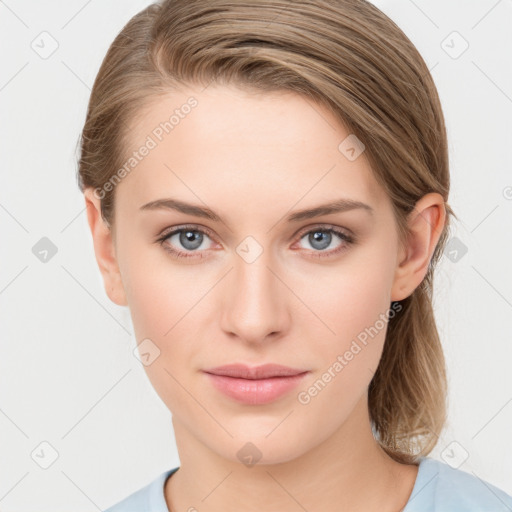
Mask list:
POLYGON ((163 1, 96 78, 79 182, 180 466, 128 510, 509 510, 428 458, 445 125, 362 0, 163 1))

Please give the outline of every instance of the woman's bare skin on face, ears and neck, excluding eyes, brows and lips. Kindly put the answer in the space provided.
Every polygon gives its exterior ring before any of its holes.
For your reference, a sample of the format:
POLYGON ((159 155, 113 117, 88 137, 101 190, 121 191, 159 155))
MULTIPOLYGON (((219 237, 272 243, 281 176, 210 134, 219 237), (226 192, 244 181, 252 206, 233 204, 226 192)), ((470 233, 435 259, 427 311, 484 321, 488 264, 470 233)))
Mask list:
POLYGON ((291 92, 250 94, 226 85, 173 91, 141 112, 130 148, 192 95, 198 106, 117 185, 113 231, 93 190, 85 192, 106 292, 130 308, 137 343, 149 338, 160 350, 145 370, 172 412, 181 462, 165 485, 169 509, 400 510, 417 466, 380 448, 367 406, 386 329, 309 403, 297 394, 391 301, 421 283, 445 222, 442 196, 418 201, 411 235, 400 245, 392 204, 364 152, 348 160, 338 150, 349 135, 345 127, 291 92), (222 221, 140 210, 169 197, 206 206, 222 221), (370 205, 374 214, 354 209, 285 220, 341 197, 370 205), (210 231, 199 255, 179 234, 155 242, 182 224, 210 231), (351 230, 356 242, 332 234, 322 249, 308 237, 328 227, 351 230), (237 253, 247 236, 263 251, 251 263, 237 253), (165 245, 193 257, 176 258, 165 245), (276 362, 311 373, 277 401, 247 405, 218 392, 201 372, 231 362, 276 362), (247 442, 261 452, 253 466, 237 456, 247 442))

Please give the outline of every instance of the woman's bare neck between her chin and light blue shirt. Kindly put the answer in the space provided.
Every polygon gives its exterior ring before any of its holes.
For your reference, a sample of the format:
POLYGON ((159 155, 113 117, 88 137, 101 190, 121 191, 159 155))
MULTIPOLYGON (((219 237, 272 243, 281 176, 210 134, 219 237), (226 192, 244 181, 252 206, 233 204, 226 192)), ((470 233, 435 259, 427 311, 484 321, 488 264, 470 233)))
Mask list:
POLYGON ((165 486, 171 512, 395 511, 406 505, 417 475, 417 466, 394 461, 375 440, 366 395, 330 437, 276 464, 228 460, 174 417, 173 425, 181 464, 165 486))

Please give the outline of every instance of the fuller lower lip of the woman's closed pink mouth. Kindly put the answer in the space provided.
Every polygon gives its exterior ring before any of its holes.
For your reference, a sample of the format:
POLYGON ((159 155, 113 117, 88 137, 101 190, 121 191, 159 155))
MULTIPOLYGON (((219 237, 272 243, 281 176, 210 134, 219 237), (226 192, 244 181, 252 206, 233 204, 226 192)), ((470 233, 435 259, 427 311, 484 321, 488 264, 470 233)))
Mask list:
POLYGON ((244 404, 261 405, 273 402, 289 393, 307 373, 309 372, 269 379, 237 379, 212 373, 206 373, 206 375, 210 377, 212 384, 225 395, 244 404))

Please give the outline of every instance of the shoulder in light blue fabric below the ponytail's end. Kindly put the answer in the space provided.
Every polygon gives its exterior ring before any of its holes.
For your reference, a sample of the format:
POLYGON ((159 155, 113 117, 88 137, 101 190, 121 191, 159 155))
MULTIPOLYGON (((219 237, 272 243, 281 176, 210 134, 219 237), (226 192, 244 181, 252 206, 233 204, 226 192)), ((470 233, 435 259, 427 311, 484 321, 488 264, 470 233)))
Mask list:
POLYGON ((418 476, 403 512, 511 512, 512 496, 475 473, 454 469, 429 457, 420 459, 418 476))

